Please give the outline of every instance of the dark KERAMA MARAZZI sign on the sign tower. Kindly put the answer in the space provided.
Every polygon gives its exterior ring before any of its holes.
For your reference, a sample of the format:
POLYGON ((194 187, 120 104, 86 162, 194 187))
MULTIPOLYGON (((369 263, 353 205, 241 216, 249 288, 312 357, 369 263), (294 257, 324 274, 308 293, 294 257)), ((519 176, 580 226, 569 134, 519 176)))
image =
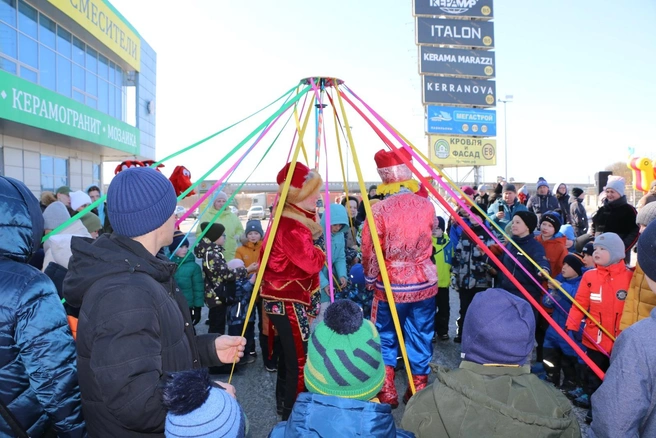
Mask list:
POLYGON ((419 46, 419 74, 494 77, 494 52, 419 46))

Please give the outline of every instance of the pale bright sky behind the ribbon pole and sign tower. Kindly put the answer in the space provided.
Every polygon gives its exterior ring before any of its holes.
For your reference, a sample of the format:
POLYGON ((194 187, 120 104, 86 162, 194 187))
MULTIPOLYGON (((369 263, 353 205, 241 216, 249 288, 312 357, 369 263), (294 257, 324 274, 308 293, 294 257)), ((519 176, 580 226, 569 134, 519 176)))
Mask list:
MULTIPOLYGON (((341 78, 428 152, 410 0, 111 3, 157 52, 157 159, 263 108, 308 76, 341 78)), ((493 22, 497 97, 513 95, 506 107, 510 178, 593 183, 595 172, 626 161, 629 148, 656 159, 649 131, 656 120, 655 1, 497 0, 493 22)), ((497 114, 497 166, 483 168, 484 181, 504 175, 502 106, 497 114)), ((356 113, 348 118, 364 179, 378 180, 373 155, 384 146, 356 113)), ((164 173, 183 165, 195 181, 265 119, 254 117, 172 159, 164 173)), ((275 180, 292 145, 293 120, 255 166, 282 123, 231 182, 275 180)), ((313 123, 305 136, 310 150, 313 123)), ((326 131, 328 178, 341 180, 330 114, 326 131)), ((222 176, 236 157, 209 178, 222 176)), ((325 177, 323 158, 320 169, 325 177)), ((446 172, 473 181, 468 170, 446 172)), ((352 163, 347 173, 355 180, 352 163)))

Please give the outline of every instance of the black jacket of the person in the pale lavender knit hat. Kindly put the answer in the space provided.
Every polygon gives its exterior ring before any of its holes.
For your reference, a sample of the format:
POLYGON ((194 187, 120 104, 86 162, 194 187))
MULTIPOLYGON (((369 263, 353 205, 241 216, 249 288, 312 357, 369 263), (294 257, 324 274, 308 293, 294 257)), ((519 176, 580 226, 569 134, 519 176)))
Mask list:
POLYGON ((592 235, 596 233, 615 233, 624 242, 624 249, 628 253, 638 241, 640 227, 635 223, 638 213, 622 196, 604 205, 592 216, 592 235))

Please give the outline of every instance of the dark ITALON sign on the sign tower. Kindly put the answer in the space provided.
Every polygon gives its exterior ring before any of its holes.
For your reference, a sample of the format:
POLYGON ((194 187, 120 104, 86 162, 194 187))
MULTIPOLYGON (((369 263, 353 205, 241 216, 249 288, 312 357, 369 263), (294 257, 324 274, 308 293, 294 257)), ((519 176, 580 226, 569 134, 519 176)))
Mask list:
POLYGON ((417 17, 417 44, 494 48, 494 23, 417 17))

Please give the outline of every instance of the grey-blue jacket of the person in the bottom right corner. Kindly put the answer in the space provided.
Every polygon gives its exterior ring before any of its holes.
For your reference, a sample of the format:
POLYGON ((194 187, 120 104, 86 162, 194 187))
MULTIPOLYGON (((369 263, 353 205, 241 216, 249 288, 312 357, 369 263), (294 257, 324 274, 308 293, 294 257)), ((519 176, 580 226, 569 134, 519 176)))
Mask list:
POLYGON ((592 395, 588 436, 656 436, 656 310, 617 337, 604 383, 592 395))

